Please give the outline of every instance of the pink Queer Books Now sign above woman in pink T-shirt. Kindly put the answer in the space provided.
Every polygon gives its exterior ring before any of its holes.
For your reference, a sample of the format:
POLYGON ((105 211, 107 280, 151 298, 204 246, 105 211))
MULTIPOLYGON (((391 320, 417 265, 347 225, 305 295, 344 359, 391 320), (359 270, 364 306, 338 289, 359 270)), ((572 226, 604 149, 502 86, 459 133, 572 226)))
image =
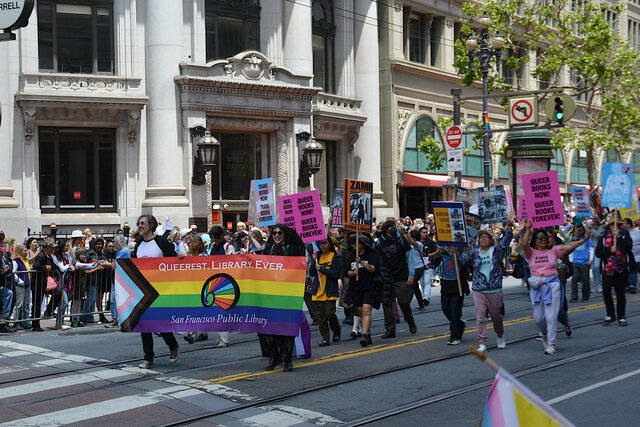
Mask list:
POLYGON ((523 175, 522 186, 527 212, 534 228, 565 223, 558 171, 523 175))

